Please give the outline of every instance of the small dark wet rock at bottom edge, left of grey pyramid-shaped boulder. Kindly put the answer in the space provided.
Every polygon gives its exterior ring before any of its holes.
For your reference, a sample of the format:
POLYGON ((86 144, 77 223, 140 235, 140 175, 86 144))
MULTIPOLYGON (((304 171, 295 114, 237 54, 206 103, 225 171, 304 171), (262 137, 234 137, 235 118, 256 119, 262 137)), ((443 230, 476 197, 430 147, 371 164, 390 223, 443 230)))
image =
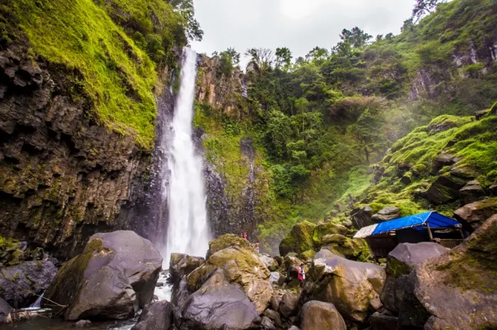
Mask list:
POLYGON ((173 304, 163 300, 147 304, 131 330, 168 330, 173 324, 173 304))

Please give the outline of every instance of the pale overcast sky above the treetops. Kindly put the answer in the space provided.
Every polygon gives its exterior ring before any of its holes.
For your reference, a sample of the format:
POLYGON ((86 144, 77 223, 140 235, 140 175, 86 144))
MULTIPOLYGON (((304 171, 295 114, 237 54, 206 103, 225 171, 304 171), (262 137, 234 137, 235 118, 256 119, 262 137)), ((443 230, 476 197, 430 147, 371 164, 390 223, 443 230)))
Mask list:
MULTIPOLYGON (((197 53, 234 47, 288 47, 294 59, 315 46, 332 48, 344 28, 398 34, 414 0, 194 0, 204 40, 197 53)), ((246 63, 246 60, 243 61, 246 63)))

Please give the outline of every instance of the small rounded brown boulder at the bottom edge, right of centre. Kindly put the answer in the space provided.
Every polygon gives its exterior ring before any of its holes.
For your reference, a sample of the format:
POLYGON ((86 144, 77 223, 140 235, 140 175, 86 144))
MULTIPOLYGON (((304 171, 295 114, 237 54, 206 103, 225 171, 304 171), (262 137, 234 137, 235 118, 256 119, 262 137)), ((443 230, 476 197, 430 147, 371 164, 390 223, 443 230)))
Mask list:
POLYGON ((311 300, 302 306, 302 330, 346 330, 344 319, 334 304, 311 300))

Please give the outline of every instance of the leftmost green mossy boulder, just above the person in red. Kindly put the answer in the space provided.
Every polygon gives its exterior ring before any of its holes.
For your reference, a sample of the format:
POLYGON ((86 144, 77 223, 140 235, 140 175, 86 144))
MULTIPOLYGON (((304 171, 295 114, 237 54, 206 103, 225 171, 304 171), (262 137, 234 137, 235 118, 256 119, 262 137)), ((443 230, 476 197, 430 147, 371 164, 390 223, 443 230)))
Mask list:
POLYGON ((287 255, 289 252, 302 253, 315 248, 312 240, 316 225, 309 221, 302 221, 293 226, 288 236, 280 243, 280 255, 287 255))

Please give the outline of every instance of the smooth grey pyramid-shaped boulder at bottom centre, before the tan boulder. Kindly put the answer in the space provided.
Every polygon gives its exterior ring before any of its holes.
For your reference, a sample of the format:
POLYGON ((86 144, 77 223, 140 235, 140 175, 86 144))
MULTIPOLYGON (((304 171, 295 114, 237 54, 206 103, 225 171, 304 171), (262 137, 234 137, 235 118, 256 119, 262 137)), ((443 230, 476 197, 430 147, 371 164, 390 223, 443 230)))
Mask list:
POLYGON ((261 319, 245 293, 230 284, 224 270, 219 269, 188 297, 175 322, 188 329, 244 330, 258 329, 261 319))

